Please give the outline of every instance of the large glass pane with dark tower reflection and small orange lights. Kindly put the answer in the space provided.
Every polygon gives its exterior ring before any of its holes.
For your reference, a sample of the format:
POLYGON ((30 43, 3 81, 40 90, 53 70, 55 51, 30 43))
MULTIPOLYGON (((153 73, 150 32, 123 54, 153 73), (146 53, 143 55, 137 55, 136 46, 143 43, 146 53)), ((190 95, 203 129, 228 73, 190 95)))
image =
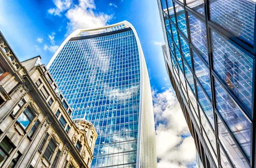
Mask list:
POLYGON ((212 31, 213 67, 228 88, 251 110, 253 59, 212 31))

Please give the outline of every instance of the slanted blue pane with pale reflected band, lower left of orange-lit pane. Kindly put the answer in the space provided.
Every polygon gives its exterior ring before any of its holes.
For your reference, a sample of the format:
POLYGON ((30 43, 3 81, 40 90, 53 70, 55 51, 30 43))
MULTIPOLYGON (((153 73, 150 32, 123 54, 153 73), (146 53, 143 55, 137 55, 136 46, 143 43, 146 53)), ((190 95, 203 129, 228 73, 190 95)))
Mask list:
POLYGON ((193 61, 194 61, 194 70, 195 70, 195 75, 197 76, 201 86, 203 87, 204 91, 212 100, 212 91, 211 91, 211 83, 210 83, 210 73, 205 64, 202 62, 202 60, 195 54, 193 53, 193 61))

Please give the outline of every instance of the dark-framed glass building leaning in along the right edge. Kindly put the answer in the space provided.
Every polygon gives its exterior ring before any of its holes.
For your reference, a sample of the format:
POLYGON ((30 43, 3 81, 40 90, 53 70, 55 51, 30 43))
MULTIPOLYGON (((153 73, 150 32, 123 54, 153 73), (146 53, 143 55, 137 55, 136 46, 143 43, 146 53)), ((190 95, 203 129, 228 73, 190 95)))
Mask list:
POLYGON ((166 68, 199 167, 255 168, 255 0, 158 0, 158 6, 166 68))

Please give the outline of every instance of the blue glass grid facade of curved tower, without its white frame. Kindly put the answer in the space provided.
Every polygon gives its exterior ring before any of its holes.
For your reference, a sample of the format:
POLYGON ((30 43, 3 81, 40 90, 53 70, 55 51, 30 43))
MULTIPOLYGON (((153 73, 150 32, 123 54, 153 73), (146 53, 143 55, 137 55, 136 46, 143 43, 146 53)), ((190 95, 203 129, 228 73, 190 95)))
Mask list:
POLYGON ((96 128, 91 167, 135 167, 140 58, 134 32, 68 41, 49 71, 73 119, 90 120, 96 128))

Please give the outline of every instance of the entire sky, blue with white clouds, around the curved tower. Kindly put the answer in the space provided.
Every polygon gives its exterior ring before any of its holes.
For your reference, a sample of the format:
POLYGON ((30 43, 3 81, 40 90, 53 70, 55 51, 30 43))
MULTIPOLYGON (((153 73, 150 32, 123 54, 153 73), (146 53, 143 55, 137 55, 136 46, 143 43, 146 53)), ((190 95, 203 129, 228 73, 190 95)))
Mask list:
POLYGON ((0 31, 18 59, 24 61, 40 55, 46 65, 77 28, 131 22, 139 36, 151 82, 158 168, 196 167, 194 140, 166 73, 157 0, 0 0, 0 3, 0 31))

